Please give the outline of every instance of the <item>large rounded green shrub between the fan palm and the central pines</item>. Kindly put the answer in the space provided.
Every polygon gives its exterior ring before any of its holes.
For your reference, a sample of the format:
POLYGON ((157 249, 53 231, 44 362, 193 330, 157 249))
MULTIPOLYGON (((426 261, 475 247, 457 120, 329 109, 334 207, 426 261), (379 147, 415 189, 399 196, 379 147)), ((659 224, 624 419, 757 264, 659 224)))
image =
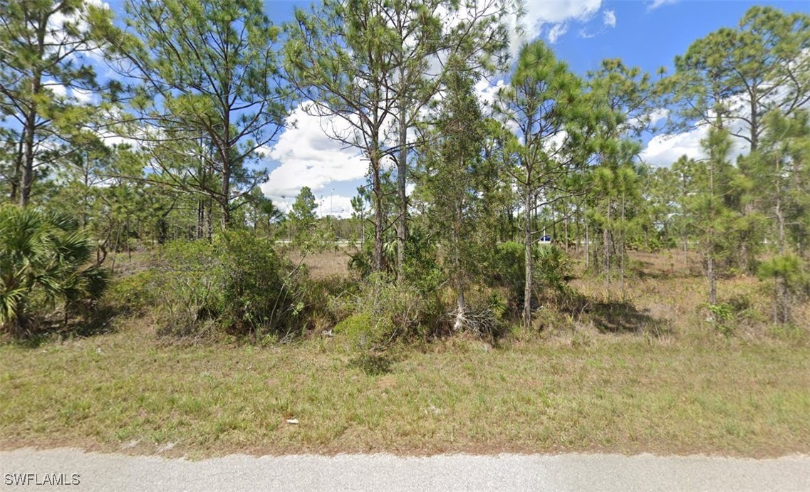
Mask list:
POLYGON ((301 272, 270 240, 228 231, 211 243, 177 241, 162 252, 161 333, 288 335, 303 310, 301 272))

